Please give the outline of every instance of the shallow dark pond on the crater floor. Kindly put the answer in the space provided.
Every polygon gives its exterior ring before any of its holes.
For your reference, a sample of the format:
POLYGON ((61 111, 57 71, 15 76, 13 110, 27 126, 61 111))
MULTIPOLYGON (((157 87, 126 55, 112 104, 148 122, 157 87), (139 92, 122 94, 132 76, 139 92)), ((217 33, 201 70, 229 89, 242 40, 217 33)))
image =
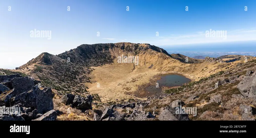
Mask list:
POLYGON ((151 96, 162 92, 161 87, 165 86, 171 88, 174 86, 182 86, 182 84, 191 81, 189 78, 177 73, 167 73, 158 76, 157 84, 154 86, 148 86, 144 90, 145 92, 141 94, 142 97, 151 96))

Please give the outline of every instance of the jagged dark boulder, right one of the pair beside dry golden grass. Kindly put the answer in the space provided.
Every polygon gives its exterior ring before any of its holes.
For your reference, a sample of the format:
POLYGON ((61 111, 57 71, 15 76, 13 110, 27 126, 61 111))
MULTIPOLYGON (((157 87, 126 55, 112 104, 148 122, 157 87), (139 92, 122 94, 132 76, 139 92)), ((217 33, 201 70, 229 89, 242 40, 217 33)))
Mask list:
POLYGON ((92 96, 87 95, 86 98, 76 95, 73 100, 73 106, 83 110, 92 109, 92 96))

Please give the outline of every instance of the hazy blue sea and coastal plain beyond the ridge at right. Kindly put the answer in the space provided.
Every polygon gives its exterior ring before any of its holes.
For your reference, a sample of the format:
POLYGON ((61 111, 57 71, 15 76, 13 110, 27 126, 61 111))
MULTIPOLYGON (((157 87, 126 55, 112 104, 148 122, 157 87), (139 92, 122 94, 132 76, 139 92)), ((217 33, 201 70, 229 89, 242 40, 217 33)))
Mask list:
POLYGON ((247 55, 256 56, 256 41, 239 41, 232 43, 210 43, 160 46, 169 54, 182 54, 188 57, 209 56, 219 57, 223 55, 247 55))

